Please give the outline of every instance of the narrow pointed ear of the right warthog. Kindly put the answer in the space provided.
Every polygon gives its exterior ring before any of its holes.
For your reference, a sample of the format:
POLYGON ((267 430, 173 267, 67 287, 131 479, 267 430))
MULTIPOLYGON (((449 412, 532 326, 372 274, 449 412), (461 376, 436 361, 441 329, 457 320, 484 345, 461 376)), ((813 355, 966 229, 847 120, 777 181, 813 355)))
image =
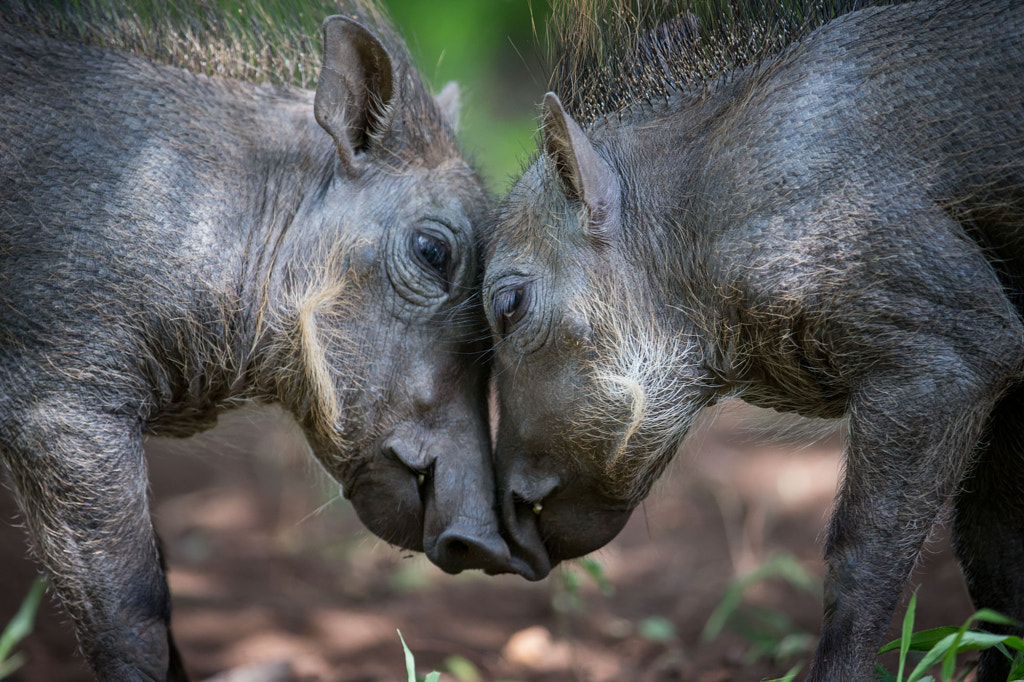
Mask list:
POLYGON ((562 189, 587 209, 588 236, 607 243, 617 230, 618 177, 565 113, 554 92, 544 95, 541 139, 544 153, 555 165, 562 189))

